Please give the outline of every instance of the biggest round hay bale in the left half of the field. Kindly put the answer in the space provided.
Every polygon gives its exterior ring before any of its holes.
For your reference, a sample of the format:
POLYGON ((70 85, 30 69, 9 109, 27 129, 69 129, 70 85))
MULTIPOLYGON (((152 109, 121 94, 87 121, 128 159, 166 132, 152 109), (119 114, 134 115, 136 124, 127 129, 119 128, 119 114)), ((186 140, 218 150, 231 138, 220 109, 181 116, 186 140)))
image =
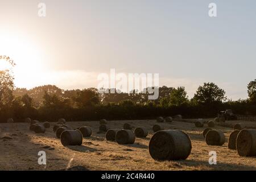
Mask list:
POLYGON ((82 133, 79 130, 65 130, 60 135, 63 146, 80 146, 82 144, 82 133))

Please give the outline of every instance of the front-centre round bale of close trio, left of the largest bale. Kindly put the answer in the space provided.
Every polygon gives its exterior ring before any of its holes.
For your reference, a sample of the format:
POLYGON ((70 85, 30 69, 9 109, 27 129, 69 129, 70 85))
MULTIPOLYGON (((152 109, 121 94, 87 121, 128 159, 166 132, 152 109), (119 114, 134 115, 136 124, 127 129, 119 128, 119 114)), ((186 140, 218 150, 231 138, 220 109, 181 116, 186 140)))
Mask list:
POLYGON ((133 144, 135 142, 135 134, 133 130, 119 130, 115 134, 115 140, 118 144, 133 144))

